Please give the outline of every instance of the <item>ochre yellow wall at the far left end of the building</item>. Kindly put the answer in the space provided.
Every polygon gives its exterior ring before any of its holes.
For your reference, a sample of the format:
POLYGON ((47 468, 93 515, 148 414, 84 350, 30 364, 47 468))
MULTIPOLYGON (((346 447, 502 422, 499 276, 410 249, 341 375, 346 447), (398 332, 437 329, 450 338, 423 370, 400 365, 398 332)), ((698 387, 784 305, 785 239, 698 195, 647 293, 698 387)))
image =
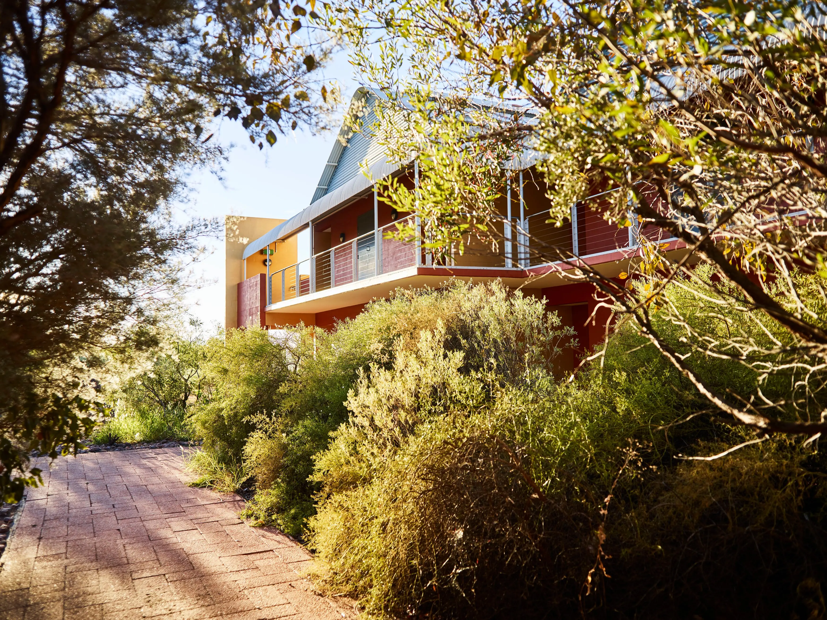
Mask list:
MULTIPOLYGON (((246 218, 241 215, 224 216, 224 327, 226 329, 237 327, 237 285, 244 280, 244 261, 241 259, 244 248, 248 243, 255 241, 282 222, 284 219, 246 218)), ((264 258, 261 254, 254 254, 247 259, 249 263, 247 277, 266 271, 266 267, 261 263, 264 258), (256 257, 258 264, 261 265, 261 271, 251 272, 250 265, 256 262, 256 257)), ((293 261, 295 262, 295 252, 293 261)))

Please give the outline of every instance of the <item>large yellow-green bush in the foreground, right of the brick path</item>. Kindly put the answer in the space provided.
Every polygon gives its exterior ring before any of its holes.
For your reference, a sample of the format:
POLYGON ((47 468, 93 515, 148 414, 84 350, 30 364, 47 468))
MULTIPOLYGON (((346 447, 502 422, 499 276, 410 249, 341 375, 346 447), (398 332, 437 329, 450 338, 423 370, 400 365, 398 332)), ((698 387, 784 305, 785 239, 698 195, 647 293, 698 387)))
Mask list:
MULTIPOLYGON (((315 458, 323 584, 388 618, 790 618, 820 596, 827 468, 814 445, 682 460, 754 435, 699 415, 704 398, 630 325, 604 359, 555 381, 555 337, 508 327, 542 311, 485 287, 465 292, 471 305, 475 291, 493 311, 462 314, 464 349, 437 324, 357 373, 351 415, 315 458)), ((748 313, 681 303, 705 333, 783 337, 748 313)), ((759 377, 688 348, 657 312, 653 326, 722 393, 796 384, 794 370, 759 377)))

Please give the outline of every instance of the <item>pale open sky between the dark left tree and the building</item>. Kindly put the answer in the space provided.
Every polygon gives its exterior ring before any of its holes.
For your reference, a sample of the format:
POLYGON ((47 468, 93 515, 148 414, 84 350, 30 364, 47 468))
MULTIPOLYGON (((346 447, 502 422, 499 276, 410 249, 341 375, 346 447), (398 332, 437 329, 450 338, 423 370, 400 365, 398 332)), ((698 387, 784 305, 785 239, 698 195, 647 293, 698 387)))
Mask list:
MULTIPOLYGON (((344 102, 358 84, 342 55, 326 71, 342 87, 344 102)), ((338 123, 330 132, 288 132, 275 146, 259 151, 241 127, 224 119, 216 136, 232 146, 221 172, 222 180, 210 171, 195 171, 189 178, 189 199, 180 204, 182 216, 223 219, 224 215, 287 219, 310 204, 323 167, 336 140, 338 123)), ((208 255, 194 265, 194 280, 204 284, 185 297, 189 314, 201 320, 208 331, 224 322, 224 241, 205 239, 208 255)))

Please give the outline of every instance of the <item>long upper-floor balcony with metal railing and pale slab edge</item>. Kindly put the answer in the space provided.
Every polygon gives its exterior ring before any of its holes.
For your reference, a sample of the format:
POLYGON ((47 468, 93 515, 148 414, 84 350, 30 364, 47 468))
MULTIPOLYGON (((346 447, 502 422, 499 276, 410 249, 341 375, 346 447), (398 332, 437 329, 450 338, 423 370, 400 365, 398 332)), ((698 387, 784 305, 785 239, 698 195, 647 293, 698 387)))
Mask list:
MULTIPOLYGON (((618 261, 635 254, 639 235, 673 241, 663 238, 659 228, 642 231, 638 225, 619 228, 606 222, 600 209, 605 209, 601 201, 608 199, 607 194, 590 196, 588 202, 572 206, 571 217, 561 226, 547 223, 545 210, 528 214, 522 221, 514 218, 508 223, 506 219, 498 231, 505 241, 498 248, 471 238, 461 255, 448 252, 440 260, 421 247, 418 234, 402 241, 392 237, 396 223, 386 224, 272 273, 266 311, 302 314, 334 310, 387 296, 398 286, 438 286, 452 276, 475 280, 496 277, 507 286, 525 285, 526 278, 532 277, 532 287, 557 286, 566 283, 561 276, 571 267, 548 262, 533 248, 542 251, 543 246, 554 245, 592 265, 612 263, 613 267, 607 267, 614 273, 607 275, 614 276, 623 271, 618 261)), ((413 225, 414 216, 401 222, 413 225)))

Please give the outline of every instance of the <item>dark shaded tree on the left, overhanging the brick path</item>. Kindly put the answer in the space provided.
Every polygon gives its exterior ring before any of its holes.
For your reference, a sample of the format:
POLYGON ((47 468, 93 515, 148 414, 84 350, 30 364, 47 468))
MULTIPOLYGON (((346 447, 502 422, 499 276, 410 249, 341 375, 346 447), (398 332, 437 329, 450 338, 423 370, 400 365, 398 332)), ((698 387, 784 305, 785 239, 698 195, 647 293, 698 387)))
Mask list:
POLYGON ((299 32, 316 19, 289 0, 3 3, 0 495, 33 482, 29 450, 77 445, 100 353, 153 344, 214 227, 170 207, 223 154, 206 127, 241 119, 261 148, 323 126, 329 46, 299 32))

